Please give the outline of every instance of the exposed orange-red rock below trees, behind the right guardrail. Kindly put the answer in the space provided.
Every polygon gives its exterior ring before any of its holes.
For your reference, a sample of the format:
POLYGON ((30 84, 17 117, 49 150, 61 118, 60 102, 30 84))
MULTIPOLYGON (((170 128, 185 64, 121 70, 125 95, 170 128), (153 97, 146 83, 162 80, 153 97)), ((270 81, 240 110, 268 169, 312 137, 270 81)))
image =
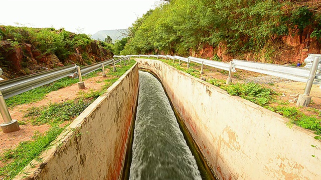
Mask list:
MULTIPOLYGON (((310 34, 310 33, 309 33, 310 34)), ((237 56, 228 53, 228 47, 225 43, 220 42, 215 48, 210 45, 203 45, 197 51, 190 51, 190 55, 195 55, 202 58, 212 58, 217 54, 222 61, 230 61, 233 58, 243 60, 261 61, 269 63, 296 63, 297 61, 303 62, 308 53, 321 53, 321 46, 315 38, 310 38, 306 35, 287 35, 283 36, 278 43, 270 43, 270 46, 264 47, 260 52, 247 52, 237 56), (271 47, 271 45, 273 47, 271 47), (272 49, 273 48, 273 49, 272 49), (274 51, 267 58, 267 51, 274 51)))

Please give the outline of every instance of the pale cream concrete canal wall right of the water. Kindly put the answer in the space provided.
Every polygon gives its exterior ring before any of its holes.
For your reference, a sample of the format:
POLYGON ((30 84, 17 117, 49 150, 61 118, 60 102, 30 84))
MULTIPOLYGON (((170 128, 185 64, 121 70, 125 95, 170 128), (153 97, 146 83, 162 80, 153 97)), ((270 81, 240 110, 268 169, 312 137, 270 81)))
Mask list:
POLYGON ((219 179, 321 179, 313 132, 162 61, 136 60, 161 79, 219 179))

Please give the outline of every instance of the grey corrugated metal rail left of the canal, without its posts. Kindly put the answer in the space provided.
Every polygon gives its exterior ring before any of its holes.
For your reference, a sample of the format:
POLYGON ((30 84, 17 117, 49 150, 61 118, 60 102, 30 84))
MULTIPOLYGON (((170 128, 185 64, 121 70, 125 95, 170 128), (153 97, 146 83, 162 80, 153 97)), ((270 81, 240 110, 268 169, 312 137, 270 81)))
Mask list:
MULTIPOLYGON (((105 60, 81 68, 81 73, 87 74, 101 68, 101 64, 110 64, 112 60, 105 60)), ((0 81, 0 90, 4 98, 9 98, 30 89, 42 86, 67 76, 78 77, 77 68, 75 65, 68 65, 60 68, 50 69, 35 74, 26 75, 23 77, 14 78, 11 80, 0 81)))

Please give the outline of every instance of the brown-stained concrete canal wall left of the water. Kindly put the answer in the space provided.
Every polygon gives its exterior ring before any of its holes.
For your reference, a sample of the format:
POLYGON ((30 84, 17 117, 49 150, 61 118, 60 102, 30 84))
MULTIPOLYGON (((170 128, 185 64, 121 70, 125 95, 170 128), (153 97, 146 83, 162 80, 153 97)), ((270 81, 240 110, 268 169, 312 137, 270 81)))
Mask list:
POLYGON ((119 179, 137 94, 136 63, 16 179, 119 179))

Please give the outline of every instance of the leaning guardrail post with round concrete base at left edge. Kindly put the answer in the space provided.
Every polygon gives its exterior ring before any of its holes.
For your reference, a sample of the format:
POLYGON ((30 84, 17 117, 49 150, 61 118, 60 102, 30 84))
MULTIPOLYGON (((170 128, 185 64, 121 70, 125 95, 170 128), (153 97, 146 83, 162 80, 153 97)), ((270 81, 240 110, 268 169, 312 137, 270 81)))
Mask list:
POLYGON ((5 98, 2 95, 1 91, 0 91, 0 112, 4 119, 4 123, 0 124, 0 126, 4 133, 20 130, 18 121, 16 119, 13 120, 11 118, 8 107, 6 105, 5 98))

